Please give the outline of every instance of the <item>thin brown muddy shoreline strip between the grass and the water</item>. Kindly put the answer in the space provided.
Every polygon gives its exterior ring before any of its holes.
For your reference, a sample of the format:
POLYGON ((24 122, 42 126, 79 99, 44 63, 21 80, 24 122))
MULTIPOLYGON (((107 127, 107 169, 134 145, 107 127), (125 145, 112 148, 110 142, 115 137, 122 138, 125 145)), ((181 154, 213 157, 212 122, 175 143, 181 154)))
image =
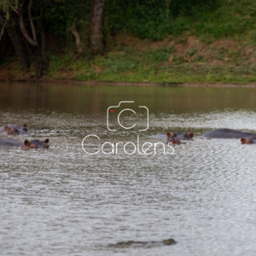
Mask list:
POLYGON ((102 81, 78 81, 73 79, 16 79, 16 80, 3 80, 0 83, 30 83, 30 84, 49 84, 49 83, 62 83, 62 84, 84 84, 84 85, 114 85, 114 86, 152 86, 152 87, 218 87, 218 88, 256 88, 256 84, 168 84, 168 83, 129 83, 129 82, 102 82, 102 81))

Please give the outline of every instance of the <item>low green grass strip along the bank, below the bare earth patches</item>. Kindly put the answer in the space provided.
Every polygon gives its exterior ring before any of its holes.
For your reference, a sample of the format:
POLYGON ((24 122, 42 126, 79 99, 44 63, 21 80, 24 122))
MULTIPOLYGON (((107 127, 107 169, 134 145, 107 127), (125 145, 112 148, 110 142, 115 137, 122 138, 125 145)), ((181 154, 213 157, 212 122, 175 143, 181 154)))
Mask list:
POLYGON ((160 84, 183 83, 223 83, 249 84, 256 82, 256 65, 246 64, 247 58, 240 50, 226 48, 212 49, 212 58, 224 61, 221 65, 209 65, 197 49, 189 49, 184 55, 177 56, 175 62, 169 62, 175 55, 173 47, 145 49, 136 51, 125 48, 109 52, 105 56, 96 56, 90 61, 74 60, 70 55, 52 57, 49 74, 55 79, 67 79, 63 73, 74 73, 72 79, 79 81, 104 82, 152 82, 160 84), (188 60, 190 57, 190 62, 188 60))

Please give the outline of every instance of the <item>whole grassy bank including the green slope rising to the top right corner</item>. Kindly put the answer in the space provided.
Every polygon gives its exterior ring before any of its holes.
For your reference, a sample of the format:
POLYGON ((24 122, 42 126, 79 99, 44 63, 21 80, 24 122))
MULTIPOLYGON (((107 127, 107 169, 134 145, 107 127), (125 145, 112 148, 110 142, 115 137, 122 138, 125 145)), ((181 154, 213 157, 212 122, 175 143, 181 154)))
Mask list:
MULTIPOLYGON (((54 50, 48 50, 49 70, 44 73, 43 79, 255 84, 256 4, 253 0, 224 1, 209 12, 199 11, 195 9, 192 16, 177 17, 172 24, 176 28, 172 34, 166 34, 167 31, 161 26, 155 27, 155 32, 159 32, 156 38, 150 38, 149 31, 148 38, 145 38, 145 34, 140 33, 127 18, 127 24, 134 27, 133 34, 136 36, 114 28, 118 33, 108 37, 107 49, 102 56, 85 54, 78 58, 75 47, 69 44, 60 50, 55 44, 54 50)), ((108 19, 107 28, 109 22, 108 19)), ((112 20, 112 23, 116 22, 112 20)), ((33 77, 33 67, 24 76, 19 61, 14 58, 7 58, 0 66, 2 80, 33 77)))

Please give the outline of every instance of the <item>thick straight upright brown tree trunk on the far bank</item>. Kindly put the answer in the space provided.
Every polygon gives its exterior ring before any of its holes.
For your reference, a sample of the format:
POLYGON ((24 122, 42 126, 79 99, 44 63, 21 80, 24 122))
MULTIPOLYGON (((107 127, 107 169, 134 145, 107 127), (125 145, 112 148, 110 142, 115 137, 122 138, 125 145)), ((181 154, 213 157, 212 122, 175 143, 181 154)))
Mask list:
POLYGON ((104 50, 104 4, 105 0, 91 0, 90 46, 94 54, 101 54, 104 50))

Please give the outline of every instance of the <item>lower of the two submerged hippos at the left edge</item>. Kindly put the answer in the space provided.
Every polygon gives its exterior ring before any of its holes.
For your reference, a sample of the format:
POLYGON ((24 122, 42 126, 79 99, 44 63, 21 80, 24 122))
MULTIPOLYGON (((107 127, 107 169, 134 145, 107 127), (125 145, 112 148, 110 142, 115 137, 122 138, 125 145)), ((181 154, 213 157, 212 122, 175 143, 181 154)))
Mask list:
POLYGON ((4 137, 0 138, 0 148, 23 148, 23 149, 29 149, 29 148, 49 148, 49 139, 46 139, 44 142, 39 140, 32 140, 28 141, 26 140, 24 143, 21 143, 18 140, 15 140, 10 137, 4 137))

